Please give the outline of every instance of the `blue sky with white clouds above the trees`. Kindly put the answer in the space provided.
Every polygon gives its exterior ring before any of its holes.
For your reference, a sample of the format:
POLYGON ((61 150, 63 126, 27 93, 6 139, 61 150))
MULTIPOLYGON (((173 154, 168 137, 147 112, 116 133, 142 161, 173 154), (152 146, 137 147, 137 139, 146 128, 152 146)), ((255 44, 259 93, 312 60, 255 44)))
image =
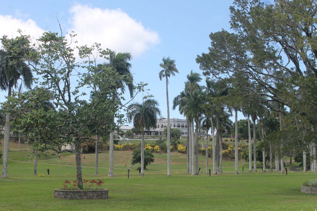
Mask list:
MULTIPOLYGON (((232 2, 4 1, 0 7, 0 36, 15 37, 17 29, 33 39, 44 31, 60 32, 58 18, 63 34, 74 31, 79 45, 97 42, 102 48, 130 52, 134 80, 148 83, 149 94, 159 101, 164 117, 166 90, 165 81, 159 80, 159 64, 163 57, 171 57, 176 60, 179 74, 169 78, 170 117, 181 119, 178 109, 171 109, 172 100, 184 89, 191 70, 202 74, 195 59, 208 52, 209 34, 222 29, 230 31, 232 2)), ((5 101, 5 95, 0 92, 0 102, 5 101)), ((142 95, 135 101, 142 101, 142 95)), ((243 118, 239 113, 238 119, 243 118)))

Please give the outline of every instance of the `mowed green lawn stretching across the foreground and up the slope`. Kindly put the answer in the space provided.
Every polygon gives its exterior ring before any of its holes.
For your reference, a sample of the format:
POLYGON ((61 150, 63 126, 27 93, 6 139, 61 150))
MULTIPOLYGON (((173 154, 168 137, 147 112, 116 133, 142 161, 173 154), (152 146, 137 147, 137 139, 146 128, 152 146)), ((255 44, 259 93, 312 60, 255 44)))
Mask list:
MULTIPOLYGON (((12 148, 15 143, 10 143, 12 148)), ((50 155, 38 160, 38 174, 33 176, 33 162, 28 152, 9 152, 8 178, 0 178, 0 210, 314 210, 317 195, 300 192, 301 184, 316 179, 308 172, 240 173, 234 175, 234 166, 224 167, 225 173, 211 175, 203 173, 191 176, 186 173, 186 154, 172 152, 171 177, 166 174, 166 154, 155 154, 154 163, 145 171, 145 177, 130 171, 131 151, 114 151, 114 177, 108 177, 109 153, 100 152, 99 175, 94 175, 94 154, 86 154, 83 178, 104 180, 103 187, 109 189, 105 200, 63 200, 54 198, 54 189, 60 188, 65 179, 74 180, 76 168, 74 155, 63 153, 63 160, 50 155), (50 175, 47 175, 47 169, 50 175)), ((52 153, 49 153, 52 154, 52 153)), ((210 159, 210 163, 211 163, 210 159)), ((199 156, 199 166, 201 157, 199 156)), ((2 170, 2 160, 0 161, 2 170)), ((223 166, 233 164, 224 161, 223 166)), ((239 164, 246 170, 248 163, 239 164)), ((212 168, 212 164, 210 164, 212 168)), ((203 169, 205 171, 204 157, 203 169)), ((258 164, 261 171, 261 164, 258 164)))

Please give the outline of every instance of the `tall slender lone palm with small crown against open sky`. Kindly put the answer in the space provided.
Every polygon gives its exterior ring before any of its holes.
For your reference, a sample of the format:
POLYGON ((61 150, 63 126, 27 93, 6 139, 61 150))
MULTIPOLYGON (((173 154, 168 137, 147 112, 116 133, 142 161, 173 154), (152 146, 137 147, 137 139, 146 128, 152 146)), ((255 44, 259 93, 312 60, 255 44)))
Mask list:
POLYGON ((159 64, 160 67, 163 68, 159 72, 159 79, 165 77, 166 79, 166 104, 167 104, 167 176, 171 176, 171 138, 170 138, 170 106, 168 101, 168 78, 175 76, 175 73, 178 73, 176 69, 175 60, 171 59, 170 57, 163 57, 163 62, 159 64))

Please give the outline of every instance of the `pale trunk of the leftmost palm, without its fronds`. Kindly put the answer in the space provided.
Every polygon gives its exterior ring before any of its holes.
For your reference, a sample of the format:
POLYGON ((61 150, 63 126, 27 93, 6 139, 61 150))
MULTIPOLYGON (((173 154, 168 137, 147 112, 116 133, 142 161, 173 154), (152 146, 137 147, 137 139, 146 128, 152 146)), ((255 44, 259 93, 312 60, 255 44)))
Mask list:
MULTIPOLYGON (((11 96, 11 91, 12 91, 12 81, 9 82, 8 97, 11 96)), ((9 99, 8 99, 8 103, 10 104, 9 99)), ((3 142, 3 169, 2 169, 3 178, 8 177, 9 139, 10 139, 10 114, 6 113, 5 126, 4 126, 4 142, 3 142)))

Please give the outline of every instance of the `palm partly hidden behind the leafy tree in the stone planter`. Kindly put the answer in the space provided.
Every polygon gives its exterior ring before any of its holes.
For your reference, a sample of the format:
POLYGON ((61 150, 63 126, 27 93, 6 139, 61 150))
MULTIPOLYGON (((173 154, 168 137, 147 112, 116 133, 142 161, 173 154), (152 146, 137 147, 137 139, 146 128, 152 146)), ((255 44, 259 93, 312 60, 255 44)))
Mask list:
MULTIPOLYGON (((130 68, 131 64, 128 62, 132 59, 131 53, 115 53, 109 50, 109 61, 98 65, 98 68, 111 68, 116 71, 122 77, 122 80, 116 81, 115 89, 120 89, 122 93, 125 91, 125 87, 128 87, 130 96, 133 96, 133 76, 131 74, 130 68)), ((120 100, 116 93, 113 93, 113 100, 120 100)), ((114 117, 113 117, 114 121, 114 117)), ((110 143, 109 143, 109 177, 113 177, 113 132, 110 133, 110 143)), ((98 147, 96 146, 96 150, 98 147)), ((96 165, 98 163, 98 158, 96 157, 96 165)), ((96 167, 97 168, 97 167, 96 167)))

